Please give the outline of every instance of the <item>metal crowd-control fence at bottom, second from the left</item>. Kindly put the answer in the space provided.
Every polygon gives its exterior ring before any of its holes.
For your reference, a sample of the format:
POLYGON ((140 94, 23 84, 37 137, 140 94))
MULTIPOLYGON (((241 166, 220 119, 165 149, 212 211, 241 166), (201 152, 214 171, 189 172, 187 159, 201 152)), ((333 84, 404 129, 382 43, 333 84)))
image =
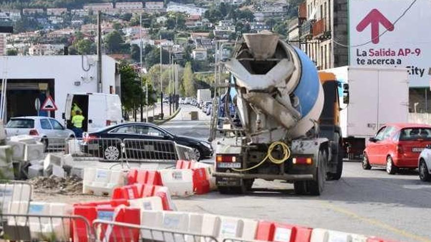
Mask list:
POLYGON ((95 220, 93 230, 97 242, 217 242, 212 236, 106 220, 95 220))

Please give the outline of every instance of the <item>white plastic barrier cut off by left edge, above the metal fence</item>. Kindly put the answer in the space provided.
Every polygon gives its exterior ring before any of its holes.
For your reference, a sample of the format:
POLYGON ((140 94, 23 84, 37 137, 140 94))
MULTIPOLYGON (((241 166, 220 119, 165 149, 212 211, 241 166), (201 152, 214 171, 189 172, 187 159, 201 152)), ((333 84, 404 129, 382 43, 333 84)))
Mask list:
POLYGON ((31 186, 30 184, 0 184, 0 209, 2 213, 27 213, 28 203, 31 198, 31 186), (22 206, 19 204, 18 207, 11 207, 11 202, 23 202, 27 204, 22 206))

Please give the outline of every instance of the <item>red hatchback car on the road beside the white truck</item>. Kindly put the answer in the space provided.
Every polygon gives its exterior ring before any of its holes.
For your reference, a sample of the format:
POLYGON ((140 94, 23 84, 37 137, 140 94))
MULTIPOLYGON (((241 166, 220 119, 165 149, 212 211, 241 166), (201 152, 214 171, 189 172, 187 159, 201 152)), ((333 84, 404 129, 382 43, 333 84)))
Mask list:
POLYGON ((424 124, 386 124, 369 139, 362 160, 364 170, 385 167, 388 174, 399 168, 416 169, 418 157, 431 144, 431 126, 424 124))

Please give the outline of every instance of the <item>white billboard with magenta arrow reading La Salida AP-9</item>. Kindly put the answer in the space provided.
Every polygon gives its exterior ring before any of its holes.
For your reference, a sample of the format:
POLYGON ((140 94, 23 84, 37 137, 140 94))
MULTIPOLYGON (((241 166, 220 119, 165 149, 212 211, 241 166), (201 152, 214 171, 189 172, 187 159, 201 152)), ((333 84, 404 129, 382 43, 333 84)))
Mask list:
POLYGON ((430 24, 431 0, 349 0, 350 65, 404 67, 430 87, 430 24))

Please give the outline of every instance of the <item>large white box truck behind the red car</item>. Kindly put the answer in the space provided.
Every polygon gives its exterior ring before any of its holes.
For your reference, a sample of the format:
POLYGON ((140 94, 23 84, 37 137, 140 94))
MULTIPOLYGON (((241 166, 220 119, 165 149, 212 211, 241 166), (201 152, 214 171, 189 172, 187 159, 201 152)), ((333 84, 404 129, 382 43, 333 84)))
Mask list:
MULTIPOLYGON (((408 73, 405 68, 342 66, 325 71, 335 74, 341 82, 340 88, 343 84, 349 87, 349 102, 340 110, 346 158, 361 159, 368 139, 383 124, 408 122, 408 73)), ((341 89, 339 93, 342 93, 341 89)))

